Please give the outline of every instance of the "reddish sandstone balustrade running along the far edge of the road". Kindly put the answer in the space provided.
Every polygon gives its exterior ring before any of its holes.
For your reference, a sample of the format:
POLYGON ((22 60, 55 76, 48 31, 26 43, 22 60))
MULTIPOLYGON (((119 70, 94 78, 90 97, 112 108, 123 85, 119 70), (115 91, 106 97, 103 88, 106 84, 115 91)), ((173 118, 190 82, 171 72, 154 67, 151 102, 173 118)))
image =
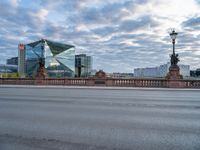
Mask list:
POLYGON ((34 80, 0 78, 0 84, 10 85, 76 85, 115 87, 200 88, 200 80, 63 78, 34 80))

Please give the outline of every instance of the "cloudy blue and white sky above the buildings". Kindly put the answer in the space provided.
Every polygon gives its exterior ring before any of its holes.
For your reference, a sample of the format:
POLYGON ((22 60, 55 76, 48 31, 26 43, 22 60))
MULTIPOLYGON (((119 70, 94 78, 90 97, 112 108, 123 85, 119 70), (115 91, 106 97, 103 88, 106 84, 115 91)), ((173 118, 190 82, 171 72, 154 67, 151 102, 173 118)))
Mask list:
POLYGON ((19 43, 48 39, 93 57, 93 68, 133 72, 169 62, 200 68, 200 0, 0 0, 0 64, 19 43))

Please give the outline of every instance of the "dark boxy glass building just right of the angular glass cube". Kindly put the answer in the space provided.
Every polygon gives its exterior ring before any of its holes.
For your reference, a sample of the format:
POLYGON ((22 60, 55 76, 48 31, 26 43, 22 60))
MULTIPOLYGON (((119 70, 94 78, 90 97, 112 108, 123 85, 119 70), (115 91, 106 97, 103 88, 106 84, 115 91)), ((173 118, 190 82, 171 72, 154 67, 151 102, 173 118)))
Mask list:
POLYGON ((75 76, 88 77, 92 71, 92 57, 86 54, 75 56, 75 76))

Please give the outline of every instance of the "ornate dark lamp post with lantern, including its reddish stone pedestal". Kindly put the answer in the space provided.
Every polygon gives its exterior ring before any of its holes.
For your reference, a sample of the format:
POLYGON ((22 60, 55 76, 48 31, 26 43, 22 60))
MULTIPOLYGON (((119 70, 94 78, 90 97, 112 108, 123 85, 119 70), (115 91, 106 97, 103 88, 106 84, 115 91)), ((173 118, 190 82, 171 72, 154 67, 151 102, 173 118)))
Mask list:
POLYGON ((178 67, 178 62, 179 62, 179 58, 178 58, 178 54, 175 53, 175 40, 176 40, 176 36, 178 35, 177 32, 175 32, 174 29, 172 29, 172 31, 169 33, 171 39, 172 39, 172 44, 173 44, 173 53, 170 56, 171 57, 171 66, 169 68, 169 73, 167 74, 166 78, 167 79, 182 79, 182 75, 180 75, 180 69, 178 67))

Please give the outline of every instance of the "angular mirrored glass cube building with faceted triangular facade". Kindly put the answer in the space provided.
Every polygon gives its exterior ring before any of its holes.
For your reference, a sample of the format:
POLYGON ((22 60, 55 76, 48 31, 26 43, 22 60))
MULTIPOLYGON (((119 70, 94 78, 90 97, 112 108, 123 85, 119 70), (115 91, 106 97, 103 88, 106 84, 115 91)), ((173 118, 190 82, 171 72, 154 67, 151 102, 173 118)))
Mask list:
POLYGON ((43 60, 49 77, 74 77, 75 47, 49 40, 25 45, 25 74, 35 77, 39 60, 43 60))

